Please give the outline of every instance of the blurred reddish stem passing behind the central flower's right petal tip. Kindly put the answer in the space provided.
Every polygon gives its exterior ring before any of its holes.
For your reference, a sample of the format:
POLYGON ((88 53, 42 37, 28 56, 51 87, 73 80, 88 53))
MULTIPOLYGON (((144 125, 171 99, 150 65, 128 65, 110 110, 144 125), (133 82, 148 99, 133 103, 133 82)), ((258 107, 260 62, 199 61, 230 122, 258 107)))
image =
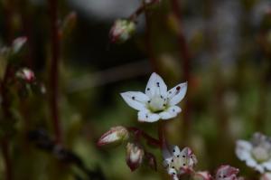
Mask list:
MULTIPOLYGON (((179 50, 180 50, 180 56, 182 58, 182 71, 183 71, 183 78, 185 81, 188 81, 188 84, 191 82, 191 60, 192 55, 189 51, 188 44, 186 43, 185 37, 183 35, 182 31, 182 12, 180 8, 180 1, 179 0, 172 0, 172 8, 173 8, 173 14, 177 18, 178 22, 178 28, 179 32, 177 33, 178 43, 179 43, 179 50)), ((191 126, 191 99, 190 99, 190 93, 187 92, 186 95, 186 101, 185 101, 185 107, 183 110, 183 128, 182 132, 184 137, 187 136, 187 132, 190 129, 191 126)))

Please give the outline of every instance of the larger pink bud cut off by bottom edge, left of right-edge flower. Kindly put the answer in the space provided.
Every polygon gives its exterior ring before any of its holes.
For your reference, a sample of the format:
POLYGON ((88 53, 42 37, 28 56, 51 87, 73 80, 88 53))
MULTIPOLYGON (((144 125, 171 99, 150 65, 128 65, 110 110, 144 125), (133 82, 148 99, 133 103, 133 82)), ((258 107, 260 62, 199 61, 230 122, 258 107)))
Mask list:
POLYGON ((216 173, 216 180, 238 180, 238 168, 226 165, 220 166, 216 173))

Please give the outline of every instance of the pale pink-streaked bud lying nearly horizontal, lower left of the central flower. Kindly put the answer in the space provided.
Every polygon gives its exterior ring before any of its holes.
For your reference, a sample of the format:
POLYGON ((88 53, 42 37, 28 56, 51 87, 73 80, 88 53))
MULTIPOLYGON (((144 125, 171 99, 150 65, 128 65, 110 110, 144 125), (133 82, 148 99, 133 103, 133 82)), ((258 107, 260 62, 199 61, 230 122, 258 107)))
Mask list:
POLYGON ((118 126, 110 128, 105 134, 98 139, 98 147, 122 143, 129 137, 129 132, 126 128, 118 126))

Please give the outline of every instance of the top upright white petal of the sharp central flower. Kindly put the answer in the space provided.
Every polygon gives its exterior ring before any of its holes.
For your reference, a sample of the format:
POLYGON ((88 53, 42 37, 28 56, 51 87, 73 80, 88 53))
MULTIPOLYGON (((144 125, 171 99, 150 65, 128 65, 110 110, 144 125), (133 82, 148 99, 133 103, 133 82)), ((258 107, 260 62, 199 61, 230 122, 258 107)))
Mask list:
POLYGON ((155 72, 152 73, 146 85, 145 94, 150 98, 154 96, 160 96, 160 95, 166 96, 166 90, 167 90, 167 87, 163 79, 155 72))

